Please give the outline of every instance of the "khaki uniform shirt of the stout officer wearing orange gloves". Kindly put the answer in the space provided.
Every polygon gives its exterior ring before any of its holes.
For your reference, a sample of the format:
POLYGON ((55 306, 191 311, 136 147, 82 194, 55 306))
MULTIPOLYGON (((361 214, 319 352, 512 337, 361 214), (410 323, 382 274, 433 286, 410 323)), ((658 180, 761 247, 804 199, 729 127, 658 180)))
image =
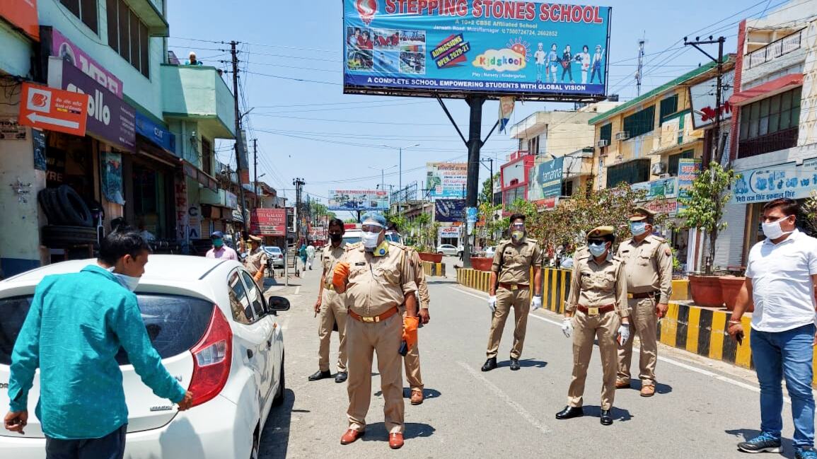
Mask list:
POLYGON ((366 252, 363 244, 346 246, 342 261, 349 264, 346 308, 363 317, 374 317, 400 306, 405 296, 417 292, 408 249, 389 243, 385 256, 366 252))

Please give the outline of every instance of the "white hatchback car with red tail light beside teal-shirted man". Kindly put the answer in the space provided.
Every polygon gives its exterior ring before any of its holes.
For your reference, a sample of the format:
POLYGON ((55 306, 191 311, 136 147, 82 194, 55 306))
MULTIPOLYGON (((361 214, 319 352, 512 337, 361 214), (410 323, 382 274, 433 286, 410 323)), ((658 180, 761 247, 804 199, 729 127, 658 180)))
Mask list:
MULTIPOLYGON (((0 282, 0 408, 8 407, 11 350, 34 288, 46 275, 76 273, 92 263, 66 261, 0 282)), ((179 255, 150 256, 136 296, 150 341, 167 370, 193 392, 194 407, 178 412, 154 395, 120 350, 129 414, 125 457, 258 457, 270 409, 283 402, 283 334, 276 314, 288 310, 289 301, 267 301, 237 261, 179 255)), ((0 457, 45 457, 33 416, 39 391, 35 376, 25 435, 0 428, 0 457)))

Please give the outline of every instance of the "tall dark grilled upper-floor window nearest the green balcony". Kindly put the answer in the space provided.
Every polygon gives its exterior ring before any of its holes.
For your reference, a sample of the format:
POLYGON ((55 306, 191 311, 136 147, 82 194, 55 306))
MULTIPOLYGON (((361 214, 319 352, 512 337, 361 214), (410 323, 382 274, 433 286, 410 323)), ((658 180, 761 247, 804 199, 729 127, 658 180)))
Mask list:
POLYGON ((108 45, 133 68, 150 78, 150 33, 124 0, 105 0, 108 8, 108 45))

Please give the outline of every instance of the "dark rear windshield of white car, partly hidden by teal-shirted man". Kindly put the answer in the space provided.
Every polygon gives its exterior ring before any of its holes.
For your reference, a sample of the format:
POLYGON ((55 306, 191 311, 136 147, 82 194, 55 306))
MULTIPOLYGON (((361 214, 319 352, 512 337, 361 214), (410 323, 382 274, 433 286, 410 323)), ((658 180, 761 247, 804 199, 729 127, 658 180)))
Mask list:
MULTIPOLYGON (((162 359, 190 350, 207 331, 212 317, 210 301, 190 296, 140 293, 139 309, 150 342, 162 359)), ((11 350, 23 326, 33 296, 0 298, 0 364, 11 364, 11 350)), ((123 349, 116 355, 120 365, 130 360, 123 349)))

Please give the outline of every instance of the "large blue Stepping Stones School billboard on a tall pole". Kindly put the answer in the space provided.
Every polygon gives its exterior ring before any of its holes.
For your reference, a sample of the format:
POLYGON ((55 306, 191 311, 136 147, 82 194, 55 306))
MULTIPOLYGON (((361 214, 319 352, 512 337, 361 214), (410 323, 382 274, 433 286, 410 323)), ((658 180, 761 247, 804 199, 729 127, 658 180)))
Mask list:
POLYGON ((609 7, 491 0, 343 5, 347 93, 605 95, 609 7))

